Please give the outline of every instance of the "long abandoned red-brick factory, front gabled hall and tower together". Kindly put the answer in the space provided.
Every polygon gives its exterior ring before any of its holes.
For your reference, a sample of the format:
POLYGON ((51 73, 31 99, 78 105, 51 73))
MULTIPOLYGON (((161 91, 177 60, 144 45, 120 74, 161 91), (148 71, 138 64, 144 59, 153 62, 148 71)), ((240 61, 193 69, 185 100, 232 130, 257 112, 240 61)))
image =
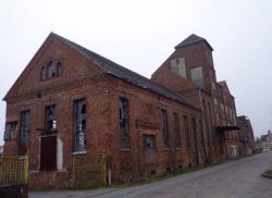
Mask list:
POLYGON ((4 101, 4 156, 29 156, 33 188, 73 184, 75 165, 98 154, 113 181, 135 181, 225 160, 237 146, 234 97, 196 35, 148 79, 50 34, 4 101))

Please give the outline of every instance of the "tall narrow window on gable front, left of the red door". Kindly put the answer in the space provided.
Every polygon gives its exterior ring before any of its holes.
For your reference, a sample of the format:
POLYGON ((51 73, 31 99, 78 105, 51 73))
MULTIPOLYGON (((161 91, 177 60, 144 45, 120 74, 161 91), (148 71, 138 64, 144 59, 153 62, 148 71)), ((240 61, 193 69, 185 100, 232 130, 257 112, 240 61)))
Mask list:
POLYGON ((21 113, 21 144, 27 145, 29 140, 30 131, 30 111, 23 111, 21 113))

